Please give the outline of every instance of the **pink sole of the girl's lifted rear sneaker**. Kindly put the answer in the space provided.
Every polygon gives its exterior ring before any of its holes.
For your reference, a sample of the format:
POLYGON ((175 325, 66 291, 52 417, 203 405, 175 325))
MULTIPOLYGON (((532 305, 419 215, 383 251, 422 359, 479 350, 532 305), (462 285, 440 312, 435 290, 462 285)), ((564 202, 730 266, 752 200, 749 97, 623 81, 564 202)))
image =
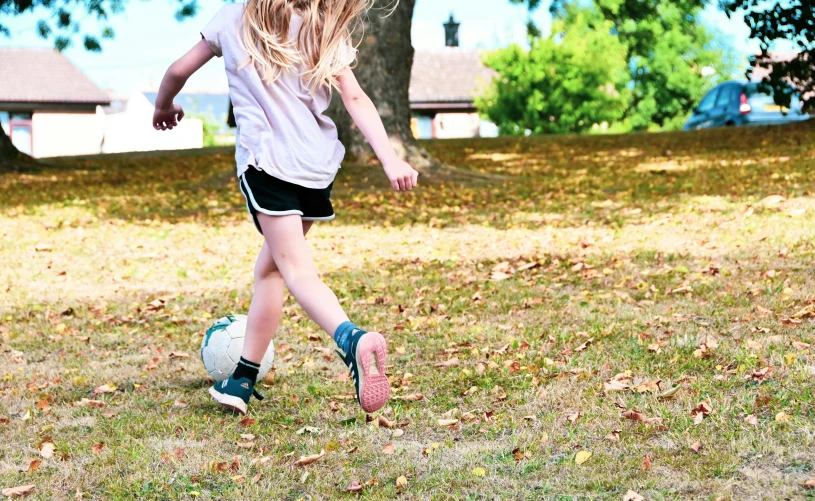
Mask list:
POLYGON ((362 336, 357 344, 357 365, 359 374, 359 403, 365 412, 376 412, 391 396, 391 384, 385 375, 388 350, 385 338, 378 332, 362 336), (371 374, 371 355, 376 356, 377 374, 371 374))

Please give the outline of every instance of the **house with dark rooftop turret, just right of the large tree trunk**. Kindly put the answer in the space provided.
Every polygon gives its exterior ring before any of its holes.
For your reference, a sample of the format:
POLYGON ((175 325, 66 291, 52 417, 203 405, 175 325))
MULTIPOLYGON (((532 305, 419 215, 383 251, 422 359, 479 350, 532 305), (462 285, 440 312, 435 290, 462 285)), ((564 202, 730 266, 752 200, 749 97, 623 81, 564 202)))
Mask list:
POLYGON ((416 51, 410 76, 413 135, 419 139, 493 137, 497 127, 476 112, 475 97, 496 73, 484 66, 483 53, 462 50, 453 16, 445 23, 445 47, 416 51))

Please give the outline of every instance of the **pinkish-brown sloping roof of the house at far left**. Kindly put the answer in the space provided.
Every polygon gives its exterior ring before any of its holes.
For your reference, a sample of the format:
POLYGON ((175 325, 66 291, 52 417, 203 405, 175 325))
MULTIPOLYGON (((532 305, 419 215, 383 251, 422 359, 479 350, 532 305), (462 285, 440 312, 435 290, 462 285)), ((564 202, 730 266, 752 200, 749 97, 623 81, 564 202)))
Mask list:
POLYGON ((0 101, 108 104, 110 98, 55 50, 0 48, 0 101))

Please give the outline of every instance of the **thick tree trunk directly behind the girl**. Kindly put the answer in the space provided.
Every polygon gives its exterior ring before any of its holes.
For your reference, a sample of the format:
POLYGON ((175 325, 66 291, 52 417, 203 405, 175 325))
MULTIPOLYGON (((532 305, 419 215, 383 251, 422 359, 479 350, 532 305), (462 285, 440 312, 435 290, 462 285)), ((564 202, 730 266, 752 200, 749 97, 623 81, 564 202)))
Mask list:
MULTIPOLYGON (((410 28, 415 5, 416 0, 401 0, 387 17, 384 17, 387 14, 385 9, 371 9, 354 74, 376 105, 396 153, 414 167, 421 168, 435 165, 436 161, 413 138, 410 128, 408 89, 413 66, 410 28)), ((360 163, 375 158, 336 92, 327 115, 337 124, 348 158, 360 163)))

